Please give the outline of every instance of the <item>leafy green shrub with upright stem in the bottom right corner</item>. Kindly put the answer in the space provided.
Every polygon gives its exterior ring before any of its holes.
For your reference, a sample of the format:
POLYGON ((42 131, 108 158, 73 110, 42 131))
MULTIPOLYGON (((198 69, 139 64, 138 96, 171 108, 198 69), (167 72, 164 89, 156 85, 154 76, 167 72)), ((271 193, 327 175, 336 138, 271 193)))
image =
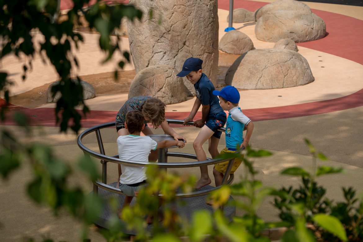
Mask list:
MULTIPOLYGON (((298 239, 298 227, 305 223, 309 225, 307 227, 319 240, 360 241, 363 231, 362 199, 358 208, 354 208, 358 198, 355 198, 355 191, 352 188, 343 188, 346 202, 339 202, 335 205, 333 201, 325 198, 326 189, 317 184, 316 177, 341 173, 343 169, 329 166, 317 167, 317 159, 327 160, 327 158, 318 152, 309 140, 305 139, 305 143, 313 155, 312 171, 308 172, 300 167, 291 167, 282 171, 283 175, 301 177, 302 185, 297 189, 293 189, 292 186, 281 188, 279 196, 275 198, 274 202, 275 206, 280 209, 281 220, 296 227, 296 231, 287 232, 283 241, 290 241, 291 238, 298 239)), ((309 238, 311 240, 310 235, 309 238)))

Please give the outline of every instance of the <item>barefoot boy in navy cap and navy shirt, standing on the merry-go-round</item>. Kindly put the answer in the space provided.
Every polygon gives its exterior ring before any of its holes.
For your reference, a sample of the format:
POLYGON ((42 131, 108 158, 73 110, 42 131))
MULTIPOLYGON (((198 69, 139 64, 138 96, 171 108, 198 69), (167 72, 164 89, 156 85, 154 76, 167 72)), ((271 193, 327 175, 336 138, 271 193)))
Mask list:
MULTIPOLYGON (((195 99, 192 111, 189 116, 184 119, 183 125, 193 121, 200 105, 202 105, 202 118, 196 120, 193 125, 201 128, 197 138, 193 142, 193 148, 198 161, 207 160, 202 145, 208 140, 208 150, 212 158, 219 155, 218 143, 221 137, 220 128, 222 128, 227 120, 227 116, 219 104, 216 95, 213 94, 215 88, 207 75, 202 71, 203 61, 199 58, 188 58, 183 65, 183 69, 177 74, 178 77, 187 77, 188 81, 194 85, 195 99)), ((200 167, 200 179, 195 185, 195 189, 200 189, 211 183, 208 175, 208 167, 200 167)))

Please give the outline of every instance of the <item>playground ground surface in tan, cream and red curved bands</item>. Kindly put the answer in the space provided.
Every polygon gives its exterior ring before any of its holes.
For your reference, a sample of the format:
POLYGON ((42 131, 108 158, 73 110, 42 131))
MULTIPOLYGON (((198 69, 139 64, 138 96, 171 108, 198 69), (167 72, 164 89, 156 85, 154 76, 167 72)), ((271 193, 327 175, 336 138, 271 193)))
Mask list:
MULTIPOLYGON (((228 26, 228 0, 219 0, 219 38, 228 26)), ((234 8, 246 8, 255 11, 257 8, 272 1, 234 1, 234 8)), ((257 179, 266 186, 281 187, 298 185, 294 177, 281 176, 280 172, 287 167, 300 166, 311 169, 312 157, 304 143, 307 138, 315 147, 330 158, 329 161, 319 161, 319 164, 343 167, 346 173, 327 175, 318 182, 327 189, 327 196, 335 201, 343 200, 341 188, 353 186, 359 194, 363 192, 363 7, 337 5, 330 3, 305 2, 314 13, 326 22, 329 33, 321 40, 299 43, 299 53, 307 59, 315 81, 305 86, 272 90, 241 90, 241 108, 255 124, 250 145, 256 149, 267 149, 273 156, 254 159, 254 165, 259 171, 257 179)), ((233 24, 233 27, 246 33, 258 48, 272 48, 274 43, 262 42, 254 36, 254 22, 233 24)), ((100 66, 103 54, 97 48, 97 34, 84 33, 85 43, 77 51, 81 68, 75 75, 96 79, 114 70, 115 63, 100 66)), ((122 44, 128 48, 127 38, 122 38, 122 44)), ((219 74, 227 71, 237 56, 220 52, 219 74)), ((23 110, 28 114, 34 126, 31 137, 24 133, 9 120, 1 124, 14 132, 24 142, 44 142, 52 146, 55 154, 74 167, 74 162, 82 156, 82 151, 76 144, 77 135, 68 132, 60 134, 53 117, 54 104, 38 103, 36 108, 27 107, 30 103, 21 103, 21 95, 34 88, 49 85, 56 80, 52 68, 44 65, 40 58, 33 62, 33 70, 25 82, 21 81, 22 61, 15 57, 3 60, 1 67, 9 73, 16 82, 11 91, 20 97, 13 110, 23 110), (22 104, 22 105, 20 105, 22 104)), ((125 71, 132 76, 134 67, 126 65, 125 71)), ((127 76, 127 75, 126 75, 127 76)), ((220 78, 220 77, 219 77, 220 78)), ((125 81, 127 82, 127 80, 125 81)), ((127 87, 123 87, 126 89, 127 87)), ((45 88, 46 90, 46 88, 45 88)), ((96 88, 97 90, 97 88, 96 88)), ((44 93, 33 90, 32 97, 44 93)), ((32 100, 33 98, 27 99, 32 100)), ((14 99, 15 100, 15 99, 14 99)), ((91 112, 82 121, 82 131, 101 123, 113 122, 115 114, 127 100, 127 93, 103 93, 86 101, 91 112)), ((167 118, 185 118, 195 98, 167 106, 167 118)), ((200 113, 198 114, 200 115, 200 113)), ((197 117, 196 117, 197 118, 197 117)), ((183 150, 194 153, 192 142, 198 132, 195 127, 174 126, 176 132, 184 135, 188 143, 183 150)), ((160 129, 155 133, 162 133, 160 129)), ((102 130, 106 154, 115 155, 116 132, 113 128, 102 130)), ((87 138, 87 147, 97 150, 95 138, 87 138)), ((224 147, 225 140, 221 138, 219 150, 224 147)), ((208 146, 205 144, 205 151, 208 146)), ((99 166, 101 169, 101 165, 99 166)), ((177 170, 180 174, 199 175, 198 168, 177 170)), ((243 169, 236 172, 235 182, 244 174, 243 169)), ((209 167, 212 175, 212 167, 209 167)), ((109 183, 117 177, 116 165, 109 164, 107 180, 109 183)), ((0 206, 2 212, 0 234, 2 241, 20 241, 25 237, 33 237, 36 241, 50 237, 55 241, 77 241, 82 224, 73 220, 66 212, 58 217, 53 216, 48 208, 37 206, 26 195, 26 185, 32 179, 28 164, 14 172, 8 180, 0 181, 0 206)), ((92 190, 92 184, 78 171, 69 180, 70 184, 80 185, 86 191, 92 190)), ((212 181, 212 184, 213 181, 212 181)), ((278 211, 271 205, 272 199, 266 200, 260 207, 258 215, 265 221, 277 221, 278 211)), ((241 211, 237 211, 241 214, 241 211)), ((104 241, 97 232, 97 227, 91 226, 89 238, 91 241, 104 241)))

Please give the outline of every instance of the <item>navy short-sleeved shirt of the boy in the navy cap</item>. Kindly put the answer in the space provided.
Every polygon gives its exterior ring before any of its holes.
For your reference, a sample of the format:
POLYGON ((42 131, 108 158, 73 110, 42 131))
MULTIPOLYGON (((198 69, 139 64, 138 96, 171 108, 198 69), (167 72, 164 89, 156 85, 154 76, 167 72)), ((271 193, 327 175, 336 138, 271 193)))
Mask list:
POLYGON ((215 90, 213 83, 207 75, 202 73, 199 81, 194 84, 195 94, 202 105, 209 104, 209 113, 207 119, 214 115, 223 112, 223 108, 219 104, 219 98, 212 92, 215 90))

